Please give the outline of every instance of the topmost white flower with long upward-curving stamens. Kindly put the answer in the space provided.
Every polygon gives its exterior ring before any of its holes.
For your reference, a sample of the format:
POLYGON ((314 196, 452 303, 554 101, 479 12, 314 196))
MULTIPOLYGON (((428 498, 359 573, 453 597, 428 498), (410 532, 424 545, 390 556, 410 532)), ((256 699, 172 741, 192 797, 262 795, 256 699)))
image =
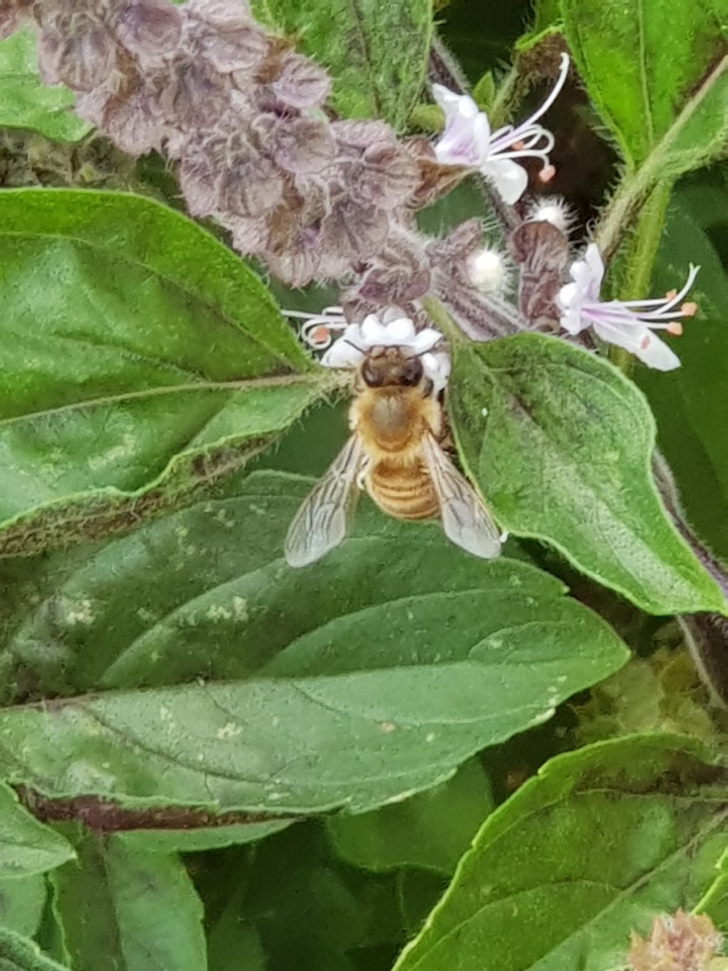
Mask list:
POLYGON ((514 158, 540 158, 541 180, 553 178, 554 168, 548 161, 553 148, 553 135, 537 124, 551 107, 569 73, 569 55, 561 55, 559 76, 544 104, 518 125, 505 125, 490 131, 487 115, 481 112, 467 94, 455 94, 442 84, 433 84, 435 101, 445 112, 445 131, 435 144, 438 161, 447 165, 467 165, 478 169, 489 179, 509 206, 520 199, 528 185, 526 170, 514 158))

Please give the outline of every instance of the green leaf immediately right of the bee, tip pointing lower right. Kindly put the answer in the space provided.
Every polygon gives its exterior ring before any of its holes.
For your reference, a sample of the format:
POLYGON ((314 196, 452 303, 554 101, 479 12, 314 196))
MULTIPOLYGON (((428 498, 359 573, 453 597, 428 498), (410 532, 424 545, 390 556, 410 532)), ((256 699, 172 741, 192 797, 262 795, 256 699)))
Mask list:
POLYGON ((654 420, 606 361, 522 334, 455 348, 450 410, 496 519, 652 614, 723 612, 652 482, 654 420))

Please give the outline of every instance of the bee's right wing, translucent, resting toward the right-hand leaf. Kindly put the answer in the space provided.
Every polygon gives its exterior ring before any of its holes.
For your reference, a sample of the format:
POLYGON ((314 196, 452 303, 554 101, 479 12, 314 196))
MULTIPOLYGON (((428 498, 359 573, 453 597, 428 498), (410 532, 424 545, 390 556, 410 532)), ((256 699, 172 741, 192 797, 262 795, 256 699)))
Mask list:
POLYGON ((440 499, 447 539, 483 559, 495 559, 501 552, 500 533, 476 490, 460 475, 432 435, 423 438, 422 452, 440 499))

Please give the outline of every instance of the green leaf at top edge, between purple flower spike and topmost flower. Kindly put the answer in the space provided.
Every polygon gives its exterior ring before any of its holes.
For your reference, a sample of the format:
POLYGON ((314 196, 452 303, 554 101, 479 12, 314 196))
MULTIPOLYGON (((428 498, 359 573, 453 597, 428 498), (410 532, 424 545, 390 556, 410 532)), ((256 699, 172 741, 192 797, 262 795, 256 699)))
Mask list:
POLYGON ((425 82, 431 0, 252 0, 251 8, 327 69, 339 115, 407 127, 425 82))

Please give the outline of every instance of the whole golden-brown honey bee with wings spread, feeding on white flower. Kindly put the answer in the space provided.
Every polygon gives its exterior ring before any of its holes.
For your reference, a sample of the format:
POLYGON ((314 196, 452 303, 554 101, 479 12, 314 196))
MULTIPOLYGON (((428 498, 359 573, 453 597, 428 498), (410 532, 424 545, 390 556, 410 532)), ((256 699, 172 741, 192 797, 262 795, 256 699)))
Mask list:
POLYGON ((421 356, 400 346, 363 355, 349 409, 352 434, 288 529, 285 558, 306 566, 339 546, 359 490, 395 519, 435 519, 457 546, 483 559, 501 551, 498 528, 441 443, 441 395, 421 356))

